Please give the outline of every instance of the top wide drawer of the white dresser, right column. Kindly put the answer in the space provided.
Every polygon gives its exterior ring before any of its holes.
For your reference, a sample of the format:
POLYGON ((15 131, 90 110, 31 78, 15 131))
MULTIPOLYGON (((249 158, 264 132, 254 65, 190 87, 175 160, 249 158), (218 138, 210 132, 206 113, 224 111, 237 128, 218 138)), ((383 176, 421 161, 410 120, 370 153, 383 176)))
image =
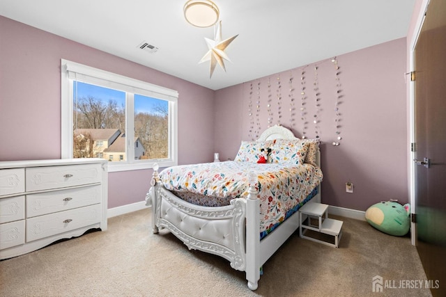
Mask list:
POLYGON ((102 182, 100 164, 26 168, 26 191, 41 191, 102 182))

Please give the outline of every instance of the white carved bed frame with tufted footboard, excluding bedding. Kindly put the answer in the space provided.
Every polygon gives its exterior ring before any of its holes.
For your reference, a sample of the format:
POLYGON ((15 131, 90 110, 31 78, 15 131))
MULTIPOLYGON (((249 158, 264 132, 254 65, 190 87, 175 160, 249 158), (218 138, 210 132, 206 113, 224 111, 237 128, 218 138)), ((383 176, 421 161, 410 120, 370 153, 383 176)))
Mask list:
MULTIPOLYGON (((289 129, 274 126, 261 134, 259 141, 295 139, 289 129)), ((320 166, 318 152, 317 164, 320 166)), ((152 187, 146 204, 152 205, 153 233, 167 228, 191 250, 202 250, 228 259, 231 267, 246 272, 249 289, 255 290, 261 266, 299 228, 299 212, 295 212, 273 232, 260 240, 260 200, 249 188, 247 199, 236 198, 225 207, 202 207, 191 204, 167 191, 153 171, 152 187)), ((312 198, 321 202, 321 188, 312 198)))

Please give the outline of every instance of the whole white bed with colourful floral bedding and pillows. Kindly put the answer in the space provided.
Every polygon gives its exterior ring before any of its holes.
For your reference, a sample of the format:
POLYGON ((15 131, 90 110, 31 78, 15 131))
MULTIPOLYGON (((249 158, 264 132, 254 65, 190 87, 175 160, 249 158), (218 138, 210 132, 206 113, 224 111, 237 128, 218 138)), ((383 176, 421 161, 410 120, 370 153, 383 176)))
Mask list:
POLYGON ((257 141, 242 141, 234 161, 160 173, 155 164, 146 195, 153 233, 166 228, 189 249, 224 257, 257 289, 263 264, 298 230, 298 209, 321 202, 318 144, 274 126, 257 141), (272 149, 265 164, 257 163, 261 148, 272 149), (239 171, 225 171, 234 167, 239 171))

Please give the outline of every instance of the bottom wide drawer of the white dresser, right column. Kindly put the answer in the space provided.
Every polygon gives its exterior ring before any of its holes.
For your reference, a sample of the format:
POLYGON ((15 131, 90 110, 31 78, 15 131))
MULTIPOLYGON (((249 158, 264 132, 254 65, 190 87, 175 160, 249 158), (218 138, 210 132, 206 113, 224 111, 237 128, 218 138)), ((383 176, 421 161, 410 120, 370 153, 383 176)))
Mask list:
POLYGON ((29 218, 26 220, 26 242, 100 223, 101 218, 101 204, 29 218))

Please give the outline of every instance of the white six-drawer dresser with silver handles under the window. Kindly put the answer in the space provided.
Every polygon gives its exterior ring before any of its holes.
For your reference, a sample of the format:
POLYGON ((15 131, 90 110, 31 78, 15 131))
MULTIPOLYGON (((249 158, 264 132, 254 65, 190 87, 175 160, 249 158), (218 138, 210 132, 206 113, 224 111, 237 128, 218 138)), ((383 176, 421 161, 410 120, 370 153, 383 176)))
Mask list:
POLYGON ((107 230, 107 161, 0 161, 0 259, 107 230))

